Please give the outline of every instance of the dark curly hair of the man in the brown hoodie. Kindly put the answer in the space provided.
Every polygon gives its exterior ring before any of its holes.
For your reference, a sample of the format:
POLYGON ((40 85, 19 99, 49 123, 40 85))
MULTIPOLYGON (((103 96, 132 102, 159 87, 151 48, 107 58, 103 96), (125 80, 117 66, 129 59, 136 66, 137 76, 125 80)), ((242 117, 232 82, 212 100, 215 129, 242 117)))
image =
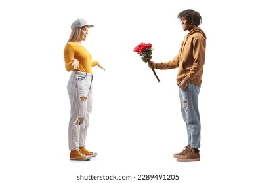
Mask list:
POLYGON ((181 18, 186 18, 190 24, 199 26, 202 23, 202 18, 200 16, 200 13, 195 10, 184 10, 180 12, 177 16, 181 20, 181 18))

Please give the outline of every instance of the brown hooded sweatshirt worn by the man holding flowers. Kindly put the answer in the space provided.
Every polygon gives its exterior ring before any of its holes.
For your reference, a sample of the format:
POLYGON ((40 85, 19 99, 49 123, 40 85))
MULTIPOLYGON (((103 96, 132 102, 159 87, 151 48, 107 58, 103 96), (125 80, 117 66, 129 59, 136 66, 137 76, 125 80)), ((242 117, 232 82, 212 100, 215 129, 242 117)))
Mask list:
POLYGON ((177 84, 182 80, 201 86, 203 65, 205 61, 206 35, 200 27, 194 27, 181 42, 179 54, 166 63, 158 63, 157 69, 174 69, 179 67, 177 84))

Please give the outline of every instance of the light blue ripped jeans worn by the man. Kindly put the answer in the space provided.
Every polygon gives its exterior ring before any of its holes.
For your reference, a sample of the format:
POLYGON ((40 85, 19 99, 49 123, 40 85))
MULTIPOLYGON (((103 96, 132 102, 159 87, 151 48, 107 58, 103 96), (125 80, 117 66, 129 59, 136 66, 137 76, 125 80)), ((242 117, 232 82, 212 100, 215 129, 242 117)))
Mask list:
POLYGON ((200 87, 190 83, 185 90, 179 88, 181 113, 186 123, 188 145, 190 145, 191 148, 200 148, 201 124, 198 110, 199 92, 200 87))

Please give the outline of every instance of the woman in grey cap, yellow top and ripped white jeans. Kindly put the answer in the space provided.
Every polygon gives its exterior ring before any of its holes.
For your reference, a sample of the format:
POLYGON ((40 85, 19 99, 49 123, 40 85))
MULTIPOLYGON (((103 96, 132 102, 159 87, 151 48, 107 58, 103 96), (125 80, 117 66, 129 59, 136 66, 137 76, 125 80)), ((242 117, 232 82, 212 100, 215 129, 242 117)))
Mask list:
MULTIPOLYGON (((75 20, 71 29, 70 39, 64 48, 65 67, 72 71, 68 81, 68 95, 70 97, 70 124, 68 128, 68 144, 71 160, 89 160, 97 155, 85 149, 85 139, 89 127, 89 114, 92 111, 93 75, 91 67, 98 65, 98 61, 91 61, 91 54, 81 45, 88 35, 88 25, 84 19, 75 20)), ((104 69, 105 70, 105 69, 104 69)))

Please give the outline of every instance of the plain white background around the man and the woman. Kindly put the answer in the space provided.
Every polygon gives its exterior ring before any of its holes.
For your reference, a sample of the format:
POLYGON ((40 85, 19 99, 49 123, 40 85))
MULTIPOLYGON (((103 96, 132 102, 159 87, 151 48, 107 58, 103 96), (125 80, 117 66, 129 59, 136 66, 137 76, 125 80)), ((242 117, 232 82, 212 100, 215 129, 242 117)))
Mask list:
POLYGON ((81 182, 76 180, 80 174, 179 174, 173 182, 251 182, 256 163, 252 3, 1 1, 0 182, 81 182), (150 42, 153 61, 171 61, 187 33, 177 14, 188 8, 200 12, 207 35, 199 96, 201 161, 178 163, 172 155, 186 145, 186 127, 177 70, 156 70, 158 83, 133 48, 150 42), (106 68, 93 67, 86 146, 98 156, 82 162, 69 160, 70 73, 63 59, 77 18, 95 25, 83 45, 106 68))

